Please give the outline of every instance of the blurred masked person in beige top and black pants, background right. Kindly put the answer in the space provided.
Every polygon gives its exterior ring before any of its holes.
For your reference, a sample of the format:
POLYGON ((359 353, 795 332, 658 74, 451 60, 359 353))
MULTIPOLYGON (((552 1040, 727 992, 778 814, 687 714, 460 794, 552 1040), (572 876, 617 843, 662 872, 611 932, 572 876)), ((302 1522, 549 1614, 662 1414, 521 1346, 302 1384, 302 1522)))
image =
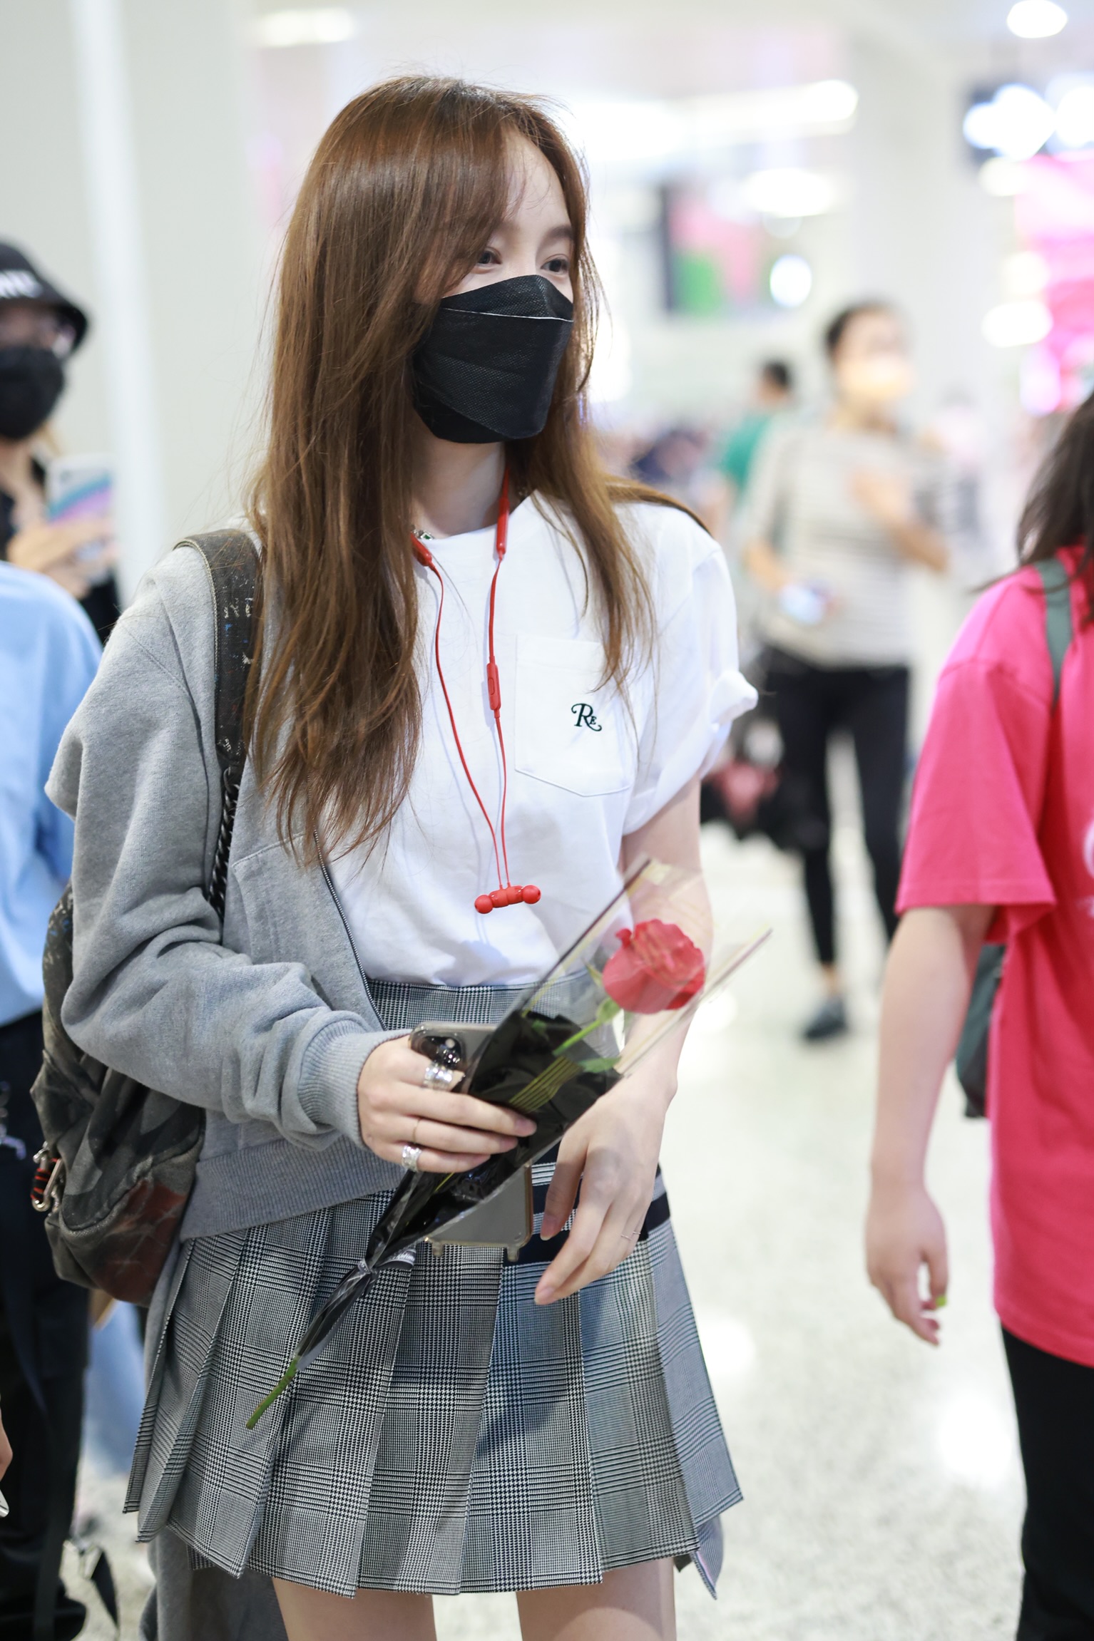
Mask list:
POLYGON ((943 571, 931 522, 938 458, 903 435, 912 387, 905 330, 884 302, 838 313, 825 333, 833 404, 764 441, 746 499, 744 565, 765 591, 765 684, 797 804, 797 847, 823 1001, 807 1042, 848 1031, 830 865, 828 742, 854 743, 866 848, 887 939, 897 927, 907 766, 908 565, 943 571))

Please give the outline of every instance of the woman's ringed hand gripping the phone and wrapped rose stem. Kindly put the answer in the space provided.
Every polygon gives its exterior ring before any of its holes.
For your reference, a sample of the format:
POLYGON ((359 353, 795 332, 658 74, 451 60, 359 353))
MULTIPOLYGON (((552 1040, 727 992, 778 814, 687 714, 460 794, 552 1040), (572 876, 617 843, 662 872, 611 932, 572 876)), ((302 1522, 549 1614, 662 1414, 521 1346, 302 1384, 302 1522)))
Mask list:
MULTIPOLYGON (((373 1049, 356 1080, 361 1139, 386 1162, 419 1145, 421 1173, 465 1173, 536 1132, 531 1118, 424 1081, 430 1062, 396 1037, 373 1049)), ((462 1073, 455 1073, 457 1083, 462 1073)))

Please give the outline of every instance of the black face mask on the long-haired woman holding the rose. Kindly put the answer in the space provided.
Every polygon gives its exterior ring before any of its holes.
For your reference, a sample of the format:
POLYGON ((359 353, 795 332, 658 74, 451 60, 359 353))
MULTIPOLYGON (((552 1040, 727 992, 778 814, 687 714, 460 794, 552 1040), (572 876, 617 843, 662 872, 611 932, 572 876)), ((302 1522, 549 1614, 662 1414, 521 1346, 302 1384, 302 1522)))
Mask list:
POLYGON ((414 353, 414 409, 453 445, 534 438, 572 328, 573 302, 542 274, 445 297, 414 353))

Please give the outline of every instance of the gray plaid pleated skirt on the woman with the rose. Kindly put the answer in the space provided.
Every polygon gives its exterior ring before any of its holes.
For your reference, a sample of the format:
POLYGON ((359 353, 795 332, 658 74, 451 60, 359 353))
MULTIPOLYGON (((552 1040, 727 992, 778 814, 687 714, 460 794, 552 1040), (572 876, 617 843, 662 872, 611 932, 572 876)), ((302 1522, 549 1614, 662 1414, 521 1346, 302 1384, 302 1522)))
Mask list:
MULTIPOLYGON (((498 1019, 508 988, 373 983, 389 1029, 498 1019)), ((537 1224, 552 1175, 537 1163, 537 1224)), ((383 1268, 253 1431, 246 1419, 389 1193, 179 1244, 126 1508, 195 1566, 353 1595, 595 1584, 693 1561, 741 1492, 660 1173, 631 1255, 537 1306, 558 1242, 419 1244, 383 1268)))

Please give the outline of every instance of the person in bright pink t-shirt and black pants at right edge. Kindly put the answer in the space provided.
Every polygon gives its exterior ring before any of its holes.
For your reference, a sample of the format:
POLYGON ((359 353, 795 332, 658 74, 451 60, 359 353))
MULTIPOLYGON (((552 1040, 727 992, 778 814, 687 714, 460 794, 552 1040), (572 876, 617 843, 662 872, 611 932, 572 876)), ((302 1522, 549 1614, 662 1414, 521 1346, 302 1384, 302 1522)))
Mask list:
POLYGON ((1020 523, 1022 565, 943 670, 885 973, 867 1268, 938 1344, 946 1232, 925 1180, 938 1091, 981 944, 1005 942, 992 1012, 995 1310, 1027 1479, 1018 1641, 1094 1636, 1094 395, 1020 523), (1068 571, 1056 694, 1038 561, 1068 571), (1030 568, 1025 568, 1030 566, 1030 568), (926 1291, 920 1273, 926 1267, 926 1291))

